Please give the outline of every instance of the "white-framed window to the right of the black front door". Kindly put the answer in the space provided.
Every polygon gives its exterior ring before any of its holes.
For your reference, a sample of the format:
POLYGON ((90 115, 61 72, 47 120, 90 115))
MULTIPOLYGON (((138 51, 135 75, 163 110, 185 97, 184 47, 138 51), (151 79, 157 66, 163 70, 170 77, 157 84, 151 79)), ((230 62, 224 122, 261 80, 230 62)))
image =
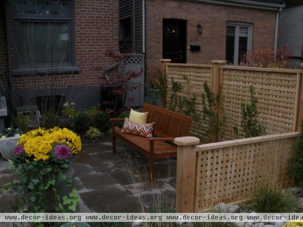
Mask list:
POLYGON ((244 23, 226 24, 225 60, 229 64, 238 65, 243 54, 251 50, 252 25, 244 23))

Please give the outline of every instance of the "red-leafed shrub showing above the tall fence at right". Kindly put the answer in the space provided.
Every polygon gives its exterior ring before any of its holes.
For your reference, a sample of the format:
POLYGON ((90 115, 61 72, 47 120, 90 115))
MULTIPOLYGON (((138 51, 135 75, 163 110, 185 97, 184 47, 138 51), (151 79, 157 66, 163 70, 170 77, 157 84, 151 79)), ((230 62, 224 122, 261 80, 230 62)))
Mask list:
POLYGON ((274 48, 260 48, 254 53, 243 55, 242 66, 259 67, 259 68, 276 68, 289 69, 292 68, 290 62, 290 49, 288 45, 277 49, 275 58, 274 48))

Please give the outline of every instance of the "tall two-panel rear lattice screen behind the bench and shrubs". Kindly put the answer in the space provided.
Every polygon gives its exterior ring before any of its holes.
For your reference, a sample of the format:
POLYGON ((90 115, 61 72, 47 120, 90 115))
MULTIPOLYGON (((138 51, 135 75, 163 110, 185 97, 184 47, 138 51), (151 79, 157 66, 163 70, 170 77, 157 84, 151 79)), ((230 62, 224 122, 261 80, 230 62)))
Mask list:
MULTIPOLYGON (((226 132, 221 140, 235 139, 233 127, 237 126, 241 133, 241 103, 249 103, 249 86, 253 85, 259 102, 259 120, 265 125, 266 134, 296 130, 302 70, 220 65, 216 75, 214 69, 215 65, 166 64, 169 80, 168 103, 172 94, 172 81, 179 82, 183 90, 178 95, 194 95, 197 98, 196 110, 202 115, 203 83, 207 81, 213 92, 220 86, 226 116, 226 132)), ((205 125, 204 122, 198 124, 205 125)), ((197 127, 197 124, 192 125, 190 132, 200 138, 203 135, 201 127, 197 127)))

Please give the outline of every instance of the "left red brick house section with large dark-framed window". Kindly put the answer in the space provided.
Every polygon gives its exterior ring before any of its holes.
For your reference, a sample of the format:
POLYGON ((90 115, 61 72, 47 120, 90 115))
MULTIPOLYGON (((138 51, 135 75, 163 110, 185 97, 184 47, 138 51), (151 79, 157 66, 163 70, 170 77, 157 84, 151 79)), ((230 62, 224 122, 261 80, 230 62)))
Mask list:
MULTIPOLYGON (((79 107, 100 103, 103 72, 118 52, 118 0, 5 0, 0 2, 0 78, 18 105, 26 89, 57 95, 79 107), (80 95, 81 94, 81 95, 80 95)), ((0 80, 1 81, 1 80, 0 80)))

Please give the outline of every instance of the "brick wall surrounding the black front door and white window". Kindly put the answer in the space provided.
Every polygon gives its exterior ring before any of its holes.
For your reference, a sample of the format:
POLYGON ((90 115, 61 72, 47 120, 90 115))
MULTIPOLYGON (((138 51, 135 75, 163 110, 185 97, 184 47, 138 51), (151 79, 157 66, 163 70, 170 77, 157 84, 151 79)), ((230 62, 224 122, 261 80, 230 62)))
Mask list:
POLYGON ((199 52, 186 51, 187 63, 210 64, 225 60, 226 22, 251 23, 252 49, 273 47, 276 13, 194 3, 183 0, 146 0, 146 79, 158 76, 162 59, 163 18, 187 20, 187 44, 201 46, 199 52), (202 34, 197 24, 203 27, 202 34))

